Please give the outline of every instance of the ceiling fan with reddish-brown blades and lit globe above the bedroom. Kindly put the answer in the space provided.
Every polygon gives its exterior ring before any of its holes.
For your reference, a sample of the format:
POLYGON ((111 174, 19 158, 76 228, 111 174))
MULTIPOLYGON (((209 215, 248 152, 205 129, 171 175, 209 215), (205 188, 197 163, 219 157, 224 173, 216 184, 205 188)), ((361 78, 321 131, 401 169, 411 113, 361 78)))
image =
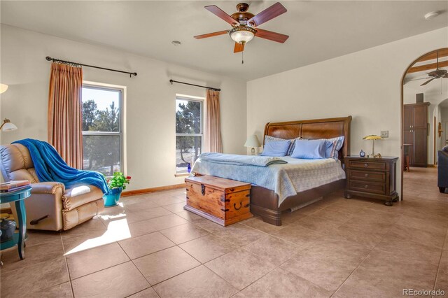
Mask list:
POLYGON ((284 43, 289 37, 285 34, 279 34, 257 28, 260 24, 286 13, 286 8, 279 2, 269 6, 269 8, 266 8, 261 13, 258 13, 258 15, 253 15, 253 13, 249 13, 247 11, 249 8, 247 3, 239 3, 237 5, 237 12, 232 15, 228 15, 216 5, 205 6, 204 8, 232 25, 232 29, 197 35, 195 38, 201 39, 228 33, 235 41, 235 48, 233 52, 243 52, 244 45, 251 41, 255 36, 269 39, 269 41, 276 41, 277 43, 284 43))

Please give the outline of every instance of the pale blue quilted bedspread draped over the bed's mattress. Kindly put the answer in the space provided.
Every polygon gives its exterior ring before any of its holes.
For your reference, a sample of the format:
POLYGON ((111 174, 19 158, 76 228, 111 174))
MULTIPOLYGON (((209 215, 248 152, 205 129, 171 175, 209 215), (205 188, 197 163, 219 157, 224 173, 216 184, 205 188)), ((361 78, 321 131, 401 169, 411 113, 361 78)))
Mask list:
POLYGON ((273 190, 280 204, 290 196, 345 178, 345 171, 337 159, 296 159, 279 157, 286 164, 254 166, 222 164, 203 160, 195 162, 192 172, 251 183, 273 190))

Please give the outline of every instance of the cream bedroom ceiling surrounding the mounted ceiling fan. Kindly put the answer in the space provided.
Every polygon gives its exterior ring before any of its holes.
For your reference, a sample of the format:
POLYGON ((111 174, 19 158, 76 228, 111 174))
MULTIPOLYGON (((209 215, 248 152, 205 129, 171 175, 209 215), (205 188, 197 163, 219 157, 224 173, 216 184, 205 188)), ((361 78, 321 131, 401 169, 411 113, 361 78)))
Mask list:
MULTIPOLYGON (((252 80, 448 26, 448 1, 282 1, 288 12, 260 26, 286 43, 254 38, 234 54, 229 29, 204 6, 228 14, 239 1, 1 1, 3 24, 134 52, 223 76, 252 80), (442 14, 426 21, 423 15, 442 14), (175 47, 172 41, 181 41, 175 47)), ((248 1, 256 14, 274 1, 248 1)), ((72 58, 76 60, 76 57, 72 58)))

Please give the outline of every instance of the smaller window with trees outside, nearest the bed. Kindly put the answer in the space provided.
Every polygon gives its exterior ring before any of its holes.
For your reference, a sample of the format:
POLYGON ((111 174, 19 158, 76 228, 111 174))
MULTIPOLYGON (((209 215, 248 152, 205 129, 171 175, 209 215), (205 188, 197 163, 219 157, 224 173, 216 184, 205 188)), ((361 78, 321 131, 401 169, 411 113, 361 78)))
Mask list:
POLYGON ((203 99, 176 97, 176 173, 187 173, 202 153, 203 99))

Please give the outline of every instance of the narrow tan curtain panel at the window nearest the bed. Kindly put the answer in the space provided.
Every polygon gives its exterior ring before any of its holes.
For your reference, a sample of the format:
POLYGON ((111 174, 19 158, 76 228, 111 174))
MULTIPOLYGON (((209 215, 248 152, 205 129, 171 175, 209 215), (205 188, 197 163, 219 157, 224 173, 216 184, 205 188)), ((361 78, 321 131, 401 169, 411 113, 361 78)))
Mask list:
POLYGON ((223 152, 221 139, 221 117, 219 112, 219 91, 207 89, 206 150, 223 152))

